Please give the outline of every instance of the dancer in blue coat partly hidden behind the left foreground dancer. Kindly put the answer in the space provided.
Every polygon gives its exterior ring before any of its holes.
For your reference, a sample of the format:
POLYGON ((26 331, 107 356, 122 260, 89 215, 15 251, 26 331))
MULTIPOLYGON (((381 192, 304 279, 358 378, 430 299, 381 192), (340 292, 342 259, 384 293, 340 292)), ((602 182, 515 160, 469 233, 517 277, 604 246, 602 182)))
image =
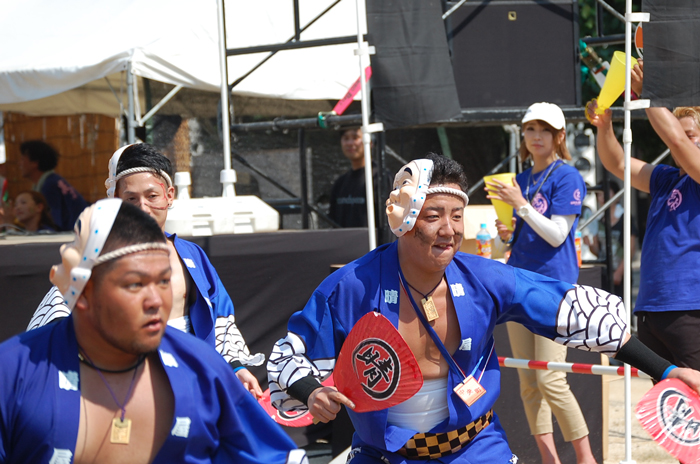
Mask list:
MULTIPOLYGON (((233 302, 216 269, 198 245, 165 232, 168 209, 175 198, 170 160, 153 146, 141 143, 117 150, 109 161, 107 196, 134 204, 153 217, 167 237, 173 269, 173 310, 169 325, 193 333, 221 353, 238 378, 256 397, 262 390, 245 366, 259 366, 262 353, 251 354, 236 326, 233 302)), ((54 287, 29 323, 33 329, 69 314, 63 295, 54 287)))

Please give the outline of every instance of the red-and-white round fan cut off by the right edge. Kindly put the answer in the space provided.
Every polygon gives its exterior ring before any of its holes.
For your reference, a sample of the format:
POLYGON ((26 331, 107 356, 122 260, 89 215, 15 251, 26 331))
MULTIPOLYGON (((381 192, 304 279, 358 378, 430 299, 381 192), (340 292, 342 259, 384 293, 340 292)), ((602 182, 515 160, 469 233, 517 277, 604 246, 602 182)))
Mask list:
POLYGON ((637 403, 637 419, 683 464, 700 463, 700 397, 678 379, 662 380, 637 403))

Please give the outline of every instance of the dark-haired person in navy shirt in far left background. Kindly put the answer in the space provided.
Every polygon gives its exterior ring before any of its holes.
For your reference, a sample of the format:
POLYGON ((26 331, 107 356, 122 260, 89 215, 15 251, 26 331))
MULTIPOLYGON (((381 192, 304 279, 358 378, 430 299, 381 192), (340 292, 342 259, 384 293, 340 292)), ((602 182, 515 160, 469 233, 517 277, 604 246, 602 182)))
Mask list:
POLYGON ((57 230, 73 230, 78 215, 88 202, 53 170, 58 165, 58 152, 41 140, 30 140, 19 146, 22 177, 34 183, 32 189, 41 192, 51 209, 57 230))

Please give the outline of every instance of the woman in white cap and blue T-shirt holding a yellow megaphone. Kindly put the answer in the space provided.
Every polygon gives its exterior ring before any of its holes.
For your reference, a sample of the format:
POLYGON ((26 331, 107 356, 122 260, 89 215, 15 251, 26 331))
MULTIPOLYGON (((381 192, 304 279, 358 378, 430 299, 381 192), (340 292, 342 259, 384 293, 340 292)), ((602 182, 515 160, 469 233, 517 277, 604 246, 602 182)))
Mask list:
MULTIPOLYGON (((514 231, 496 221, 502 244, 511 248, 508 264, 558 280, 576 283, 576 224, 586 185, 578 171, 565 164, 571 155, 566 148, 566 121, 552 103, 535 103, 522 120, 523 143, 520 158, 532 167, 516 176, 513 185, 499 181, 486 187, 488 198, 512 206, 514 231)), ((513 356, 523 359, 563 362, 566 348, 509 322, 508 335, 513 356)), ((588 427, 566 374, 553 371, 518 370, 520 396, 530 432, 545 464, 560 463, 554 445, 552 413, 564 440, 572 442, 578 464, 594 463, 588 427)))

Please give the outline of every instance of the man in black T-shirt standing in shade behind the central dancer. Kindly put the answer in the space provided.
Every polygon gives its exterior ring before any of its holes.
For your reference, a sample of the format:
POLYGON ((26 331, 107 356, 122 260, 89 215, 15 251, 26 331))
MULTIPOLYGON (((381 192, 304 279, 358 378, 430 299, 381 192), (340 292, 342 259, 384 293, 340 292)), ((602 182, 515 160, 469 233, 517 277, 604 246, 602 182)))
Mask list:
MULTIPOLYGON (((367 227, 367 195, 365 190, 365 147, 362 129, 353 127, 341 132, 340 148, 350 161, 350 170, 333 183, 330 196, 330 218, 341 227, 367 227)), ((391 190, 388 175, 380 176, 372 169, 375 199, 380 192, 391 190)), ((376 208, 375 208, 376 209, 376 208)))

